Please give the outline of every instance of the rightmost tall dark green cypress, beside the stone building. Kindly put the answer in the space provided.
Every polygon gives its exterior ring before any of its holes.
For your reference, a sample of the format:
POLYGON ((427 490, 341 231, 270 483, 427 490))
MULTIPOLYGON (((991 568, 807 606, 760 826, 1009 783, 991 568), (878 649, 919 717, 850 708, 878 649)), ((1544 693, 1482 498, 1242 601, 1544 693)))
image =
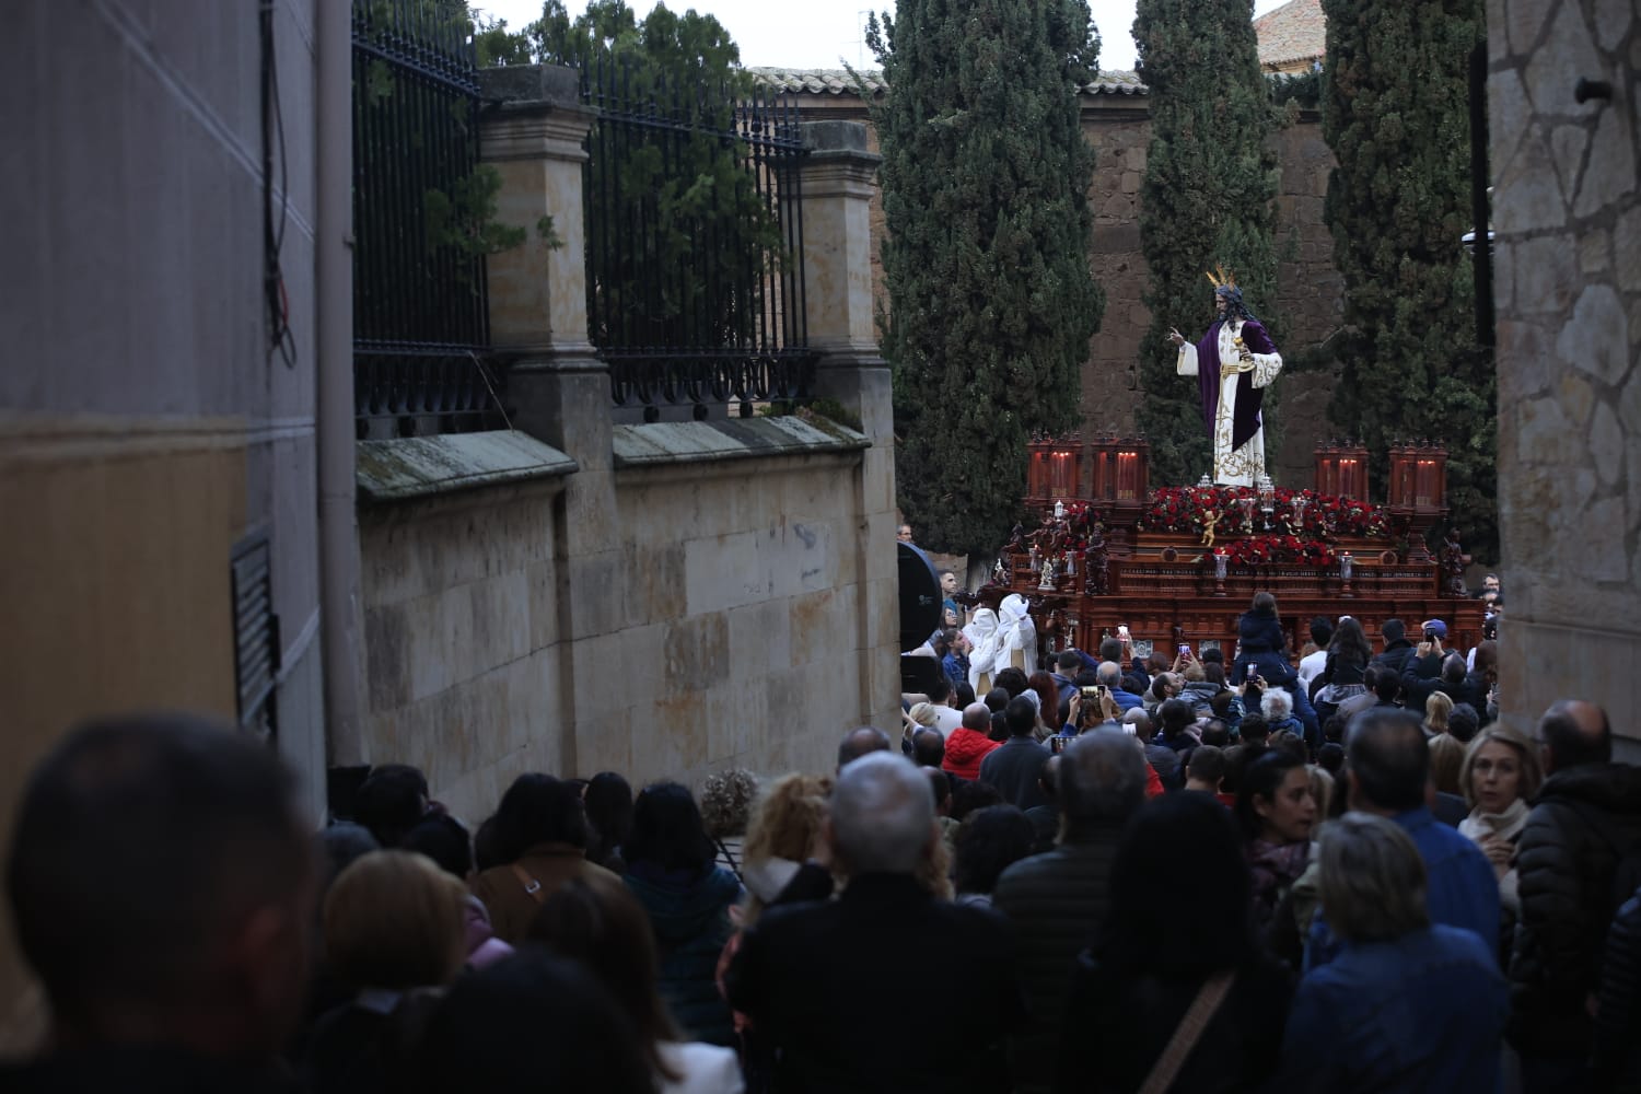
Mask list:
POLYGON ((1382 490, 1398 438, 1446 443, 1465 545, 1497 545, 1497 377, 1475 343, 1470 52, 1480 0, 1323 0, 1323 136, 1339 166, 1324 215, 1346 282, 1347 335, 1329 417, 1374 454, 1382 490))

